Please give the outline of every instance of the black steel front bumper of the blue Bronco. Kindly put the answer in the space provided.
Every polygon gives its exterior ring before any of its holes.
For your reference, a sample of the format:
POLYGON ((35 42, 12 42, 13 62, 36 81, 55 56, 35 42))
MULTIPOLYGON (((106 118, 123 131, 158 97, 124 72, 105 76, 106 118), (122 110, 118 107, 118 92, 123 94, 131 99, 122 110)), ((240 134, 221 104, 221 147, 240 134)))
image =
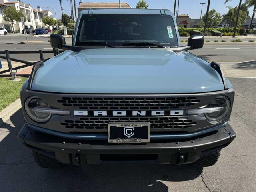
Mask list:
POLYGON ((161 140, 147 144, 109 144, 106 141, 70 140, 38 132, 24 124, 18 138, 32 150, 65 164, 192 163, 230 144, 236 133, 229 124, 186 140, 161 140))

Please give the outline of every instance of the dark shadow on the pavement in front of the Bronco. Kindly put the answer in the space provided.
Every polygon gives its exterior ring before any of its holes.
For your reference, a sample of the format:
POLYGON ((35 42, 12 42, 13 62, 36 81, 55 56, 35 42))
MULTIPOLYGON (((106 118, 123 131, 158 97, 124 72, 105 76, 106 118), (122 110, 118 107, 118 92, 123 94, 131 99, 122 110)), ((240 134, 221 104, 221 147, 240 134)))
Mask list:
POLYGON ((86 165, 44 169, 17 138, 24 124, 18 110, 1 128, 9 131, 0 142, 1 191, 163 191, 170 183, 194 180, 202 170, 189 165, 86 165))

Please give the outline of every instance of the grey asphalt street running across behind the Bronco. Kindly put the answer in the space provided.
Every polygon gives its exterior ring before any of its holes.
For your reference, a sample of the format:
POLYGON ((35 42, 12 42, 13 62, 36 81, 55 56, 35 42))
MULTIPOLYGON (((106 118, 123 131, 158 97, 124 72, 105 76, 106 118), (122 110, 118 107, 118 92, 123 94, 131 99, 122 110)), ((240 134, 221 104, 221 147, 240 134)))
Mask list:
MULTIPOLYGON (((0 51, 4 50, 51 50, 50 44, 19 44, 21 41, 26 40, 24 35, 6 35, 0 36, 0 51)), ((48 38, 34 37, 32 34, 28 34, 28 40, 44 40, 48 38)), ((71 41, 67 38, 66 41, 71 41)), ((243 62, 256 60, 256 44, 205 44, 202 49, 190 50, 193 54, 196 54, 208 61, 216 62, 243 62)), ((22 60, 37 61, 39 60, 39 54, 12 54, 13 58, 20 58, 22 60)), ((52 54, 45 54, 44 58, 52 57, 52 54)))

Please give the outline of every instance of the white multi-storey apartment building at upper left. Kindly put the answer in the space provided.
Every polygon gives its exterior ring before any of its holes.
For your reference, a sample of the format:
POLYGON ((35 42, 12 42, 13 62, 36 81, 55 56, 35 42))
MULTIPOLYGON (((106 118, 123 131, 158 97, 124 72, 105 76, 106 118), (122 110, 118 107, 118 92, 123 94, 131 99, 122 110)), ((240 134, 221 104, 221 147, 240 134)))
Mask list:
MULTIPOLYGON (((10 33, 12 32, 12 26, 9 22, 4 21, 4 8, 8 8, 13 6, 16 10, 21 11, 24 16, 27 18, 25 22, 25 28, 36 29, 36 28, 48 28, 42 22, 43 17, 49 16, 53 18, 52 12, 50 10, 42 10, 40 7, 36 9, 30 6, 30 4, 25 4, 22 1, 8 1, 8 0, 0 0, 0 27, 6 28, 6 30, 10 33)), ((50 27, 52 29, 52 27, 50 27)), ((14 31, 22 32, 23 26, 21 22, 14 22, 14 31)))

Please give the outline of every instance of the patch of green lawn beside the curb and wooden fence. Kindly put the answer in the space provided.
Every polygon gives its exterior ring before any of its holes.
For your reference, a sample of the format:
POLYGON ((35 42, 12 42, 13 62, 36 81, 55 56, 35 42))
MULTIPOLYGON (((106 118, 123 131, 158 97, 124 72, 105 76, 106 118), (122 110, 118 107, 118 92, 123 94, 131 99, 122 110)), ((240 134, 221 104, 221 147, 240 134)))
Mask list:
POLYGON ((22 84, 26 77, 17 77, 20 81, 11 81, 9 77, 0 77, 0 111, 20 97, 22 84))

